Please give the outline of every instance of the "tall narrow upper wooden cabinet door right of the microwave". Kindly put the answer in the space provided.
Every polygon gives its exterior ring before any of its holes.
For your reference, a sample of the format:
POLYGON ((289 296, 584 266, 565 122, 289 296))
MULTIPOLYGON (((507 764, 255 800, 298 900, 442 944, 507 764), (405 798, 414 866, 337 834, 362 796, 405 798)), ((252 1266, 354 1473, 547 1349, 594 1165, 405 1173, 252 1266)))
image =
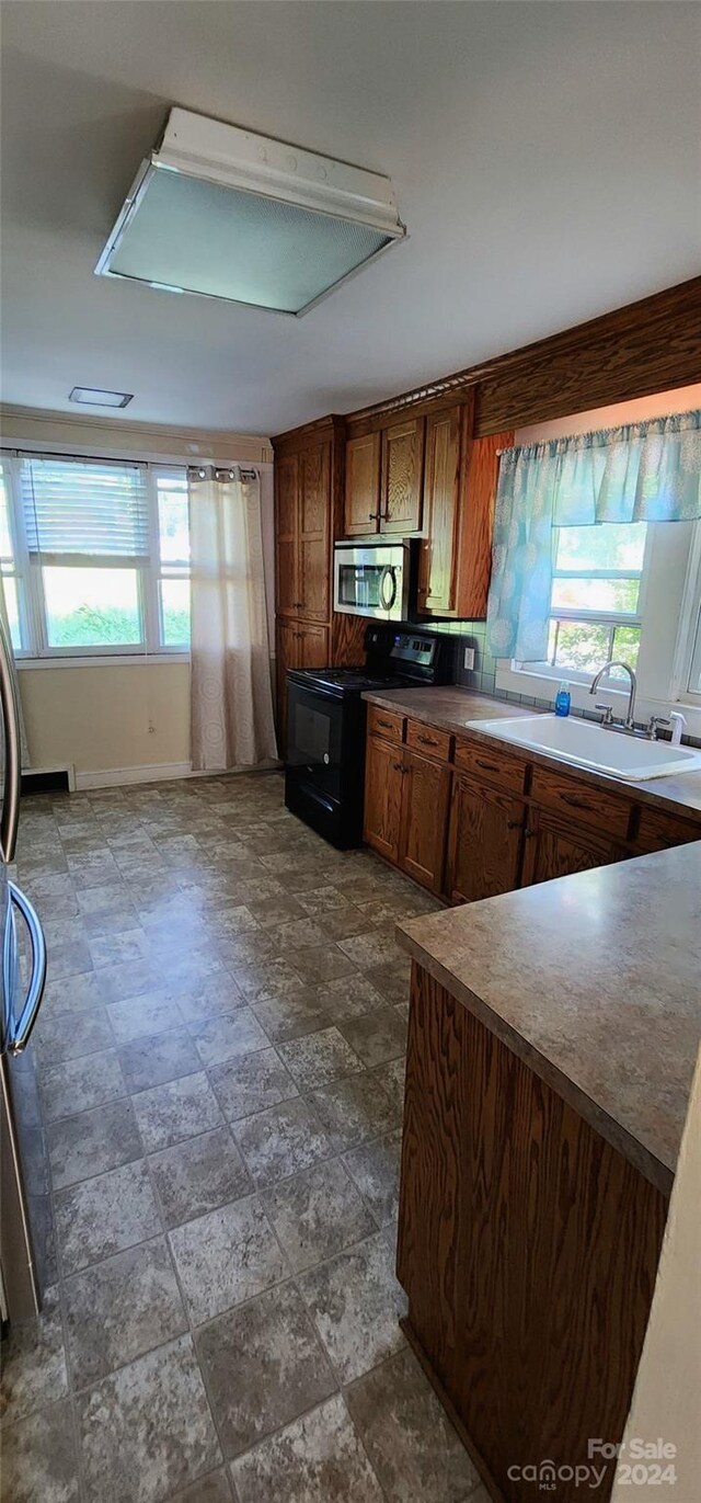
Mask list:
POLYGON ((455 607, 458 573, 458 488, 461 407, 437 412, 426 422, 423 531, 419 561, 419 610, 455 607))

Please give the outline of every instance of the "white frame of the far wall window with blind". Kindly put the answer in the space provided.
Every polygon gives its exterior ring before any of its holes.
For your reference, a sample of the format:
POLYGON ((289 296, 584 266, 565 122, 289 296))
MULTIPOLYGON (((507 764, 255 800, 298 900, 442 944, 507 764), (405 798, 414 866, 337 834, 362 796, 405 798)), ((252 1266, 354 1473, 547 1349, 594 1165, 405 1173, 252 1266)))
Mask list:
MULTIPOLYGON (((27 458, 36 457, 42 458, 48 451, 33 449, 27 451, 27 458)), ((65 458, 75 457, 83 460, 86 464, 99 463, 101 455, 95 454, 65 454, 65 458)), ((182 645, 168 646, 162 640, 162 621, 159 610, 159 580, 162 577, 164 565, 161 561, 161 534, 159 534, 159 514, 158 514, 158 476, 167 475, 174 478, 182 475, 186 479, 188 466, 183 461, 159 460, 147 461, 147 505, 149 505, 149 558, 132 558, 132 556, 102 556, 95 555, 32 555, 27 546, 27 535, 24 526, 24 510, 21 496, 21 464, 24 463, 24 455, 17 451, 8 454, 3 452, 3 469, 8 484, 8 514, 11 538, 14 546, 14 570, 5 570, 3 576, 9 573, 17 579, 18 592, 18 615, 20 615, 20 631, 23 648, 15 648, 15 658, 18 667, 48 667, 51 666, 78 666, 86 663, 87 666, 99 666, 99 663, 153 663, 153 661, 185 661, 189 663, 191 648, 189 642, 182 645), (66 568, 126 568, 137 573, 137 598, 141 618, 143 639, 140 643, 80 643, 75 646, 51 646, 48 642, 48 615, 47 615, 47 600, 44 588, 44 567, 66 567, 66 568)), ((135 463, 128 455, 119 455, 110 458, 110 463, 135 463)), ((140 461, 143 463, 143 461, 140 461)), ((189 564, 186 568, 180 567, 179 577, 191 579, 189 564)))

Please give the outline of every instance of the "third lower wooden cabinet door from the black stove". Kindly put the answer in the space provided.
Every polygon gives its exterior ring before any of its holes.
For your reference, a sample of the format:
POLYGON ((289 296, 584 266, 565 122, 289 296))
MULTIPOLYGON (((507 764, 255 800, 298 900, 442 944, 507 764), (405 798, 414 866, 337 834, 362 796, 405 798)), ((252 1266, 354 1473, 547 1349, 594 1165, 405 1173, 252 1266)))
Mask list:
POLYGON ((453 777, 446 893, 452 903, 518 887, 525 804, 507 792, 453 777))

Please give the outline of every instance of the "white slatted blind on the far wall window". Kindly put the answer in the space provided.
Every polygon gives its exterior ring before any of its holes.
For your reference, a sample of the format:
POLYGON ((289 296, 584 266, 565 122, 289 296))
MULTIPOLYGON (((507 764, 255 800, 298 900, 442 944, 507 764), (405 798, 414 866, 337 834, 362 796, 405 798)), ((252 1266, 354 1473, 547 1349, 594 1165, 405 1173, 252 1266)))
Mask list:
POLYGON ((21 455, 21 505, 30 553, 149 558, 146 464, 21 455))

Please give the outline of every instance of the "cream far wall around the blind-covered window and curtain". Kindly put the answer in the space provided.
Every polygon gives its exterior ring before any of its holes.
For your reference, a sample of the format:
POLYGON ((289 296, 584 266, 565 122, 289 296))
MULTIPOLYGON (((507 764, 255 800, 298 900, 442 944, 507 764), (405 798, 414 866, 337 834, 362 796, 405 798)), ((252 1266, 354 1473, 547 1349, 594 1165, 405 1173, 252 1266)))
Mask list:
MULTIPOLYGON (((108 418, 5 407, 2 442, 51 452, 102 457, 239 461, 261 470, 261 528, 267 580, 270 651, 275 645, 275 535, 272 448, 242 433, 183 431, 108 418)), ((72 764, 78 788, 128 777, 179 776, 189 770, 189 663, 134 658, 86 666, 20 664, 32 765, 72 764)))

